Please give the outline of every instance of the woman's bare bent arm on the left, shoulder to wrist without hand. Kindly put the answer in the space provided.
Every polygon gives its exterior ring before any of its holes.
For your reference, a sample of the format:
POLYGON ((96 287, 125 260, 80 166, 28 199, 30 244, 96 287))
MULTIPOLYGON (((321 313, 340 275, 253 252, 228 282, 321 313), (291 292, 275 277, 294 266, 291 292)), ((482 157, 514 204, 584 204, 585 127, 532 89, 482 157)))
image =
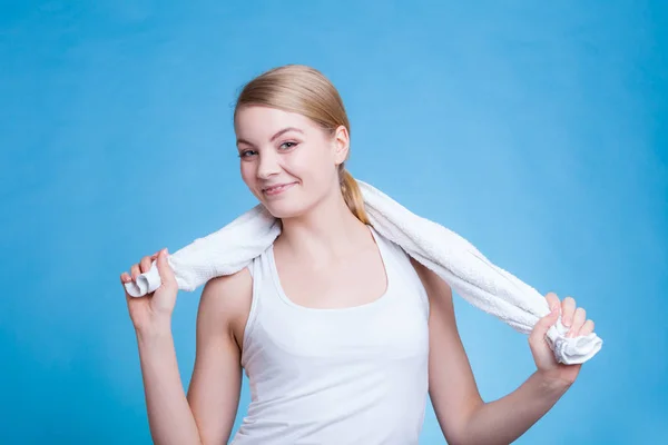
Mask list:
POLYGON ((250 286, 244 269, 204 287, 187 396, 169 322, 137 332, 149 427, 156 444, 219 444, 229 438, 242 378, 240 353, 232 327, 246 300, 249 306, 250 286))

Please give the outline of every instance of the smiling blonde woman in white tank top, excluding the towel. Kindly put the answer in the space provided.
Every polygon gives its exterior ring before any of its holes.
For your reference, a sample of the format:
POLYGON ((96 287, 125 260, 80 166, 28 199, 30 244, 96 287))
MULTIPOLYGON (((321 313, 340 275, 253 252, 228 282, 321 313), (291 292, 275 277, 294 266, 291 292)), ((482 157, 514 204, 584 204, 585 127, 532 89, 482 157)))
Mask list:
POLYGON ((197 316, 188 394, 170 318, 177 285, 167 251, 163 285, 126 294, 137 333, 151 435, 158 444, 226 443, 242 369, 252 390, 233 444, 416 444, 428 392, 451 444, 508 444, 574 382, 544 335, 561 310, 572 336, 593 332, 573 298, 546 298, 552 313, 529 337, 537 372, 484 403, 458 334, 446 283, 369 224, 345 170, 350 125, 317 70, 285 66, 245 86, 234 126, 244 182, 279 218, 282 233, 239 273, 209 280, 197 316))

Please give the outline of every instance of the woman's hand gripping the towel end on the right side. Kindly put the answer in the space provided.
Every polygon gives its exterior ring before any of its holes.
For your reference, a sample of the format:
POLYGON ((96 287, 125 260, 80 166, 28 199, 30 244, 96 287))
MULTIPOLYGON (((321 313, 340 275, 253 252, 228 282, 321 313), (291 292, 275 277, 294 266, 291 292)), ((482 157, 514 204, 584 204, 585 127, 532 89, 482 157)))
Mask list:
POLYGON ((529 347, 531 348, 538 373, 543 376, 546 382, 568 387, 576 382, 582 365, 564 365, 557 362, 554 353, 552 353, 546 339, 546 335, 550 326, 557 323, 560 313, 561 323, 569 328, 567 337, 591 334, 593 332, 593 322, 587 319, 587 313, 583 308, 576 307, 576 300, 572 297, 566 297, 563 301, 560 301, 557 294, 549 293, 546 295, 546 299, 552 312, 541 318, 533 327, 533 330, 529 335, 529 347))

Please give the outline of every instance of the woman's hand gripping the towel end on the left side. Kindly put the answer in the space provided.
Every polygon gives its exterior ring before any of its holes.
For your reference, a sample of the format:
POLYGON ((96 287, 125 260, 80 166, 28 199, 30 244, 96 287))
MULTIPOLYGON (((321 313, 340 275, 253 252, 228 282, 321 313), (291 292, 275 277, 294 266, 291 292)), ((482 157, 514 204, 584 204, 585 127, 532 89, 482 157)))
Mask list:
POLYGON ((130 267, 130 274, 125 271, 120 274, 120 283, 124 285, 130 319, 138 332, 150 330, 158 326, 168 326, 171 322, 178 285, 174 271, 167 261, 168 255, 169 253, 165 248, 151 256, 141 258, 138 264, 130 267), (148 271, 154 259, 157 259, 156 263, 161 281, 160 287, 143 297, 130 296, 125 289, 125 284, 136 280, 140 274, 148 271))

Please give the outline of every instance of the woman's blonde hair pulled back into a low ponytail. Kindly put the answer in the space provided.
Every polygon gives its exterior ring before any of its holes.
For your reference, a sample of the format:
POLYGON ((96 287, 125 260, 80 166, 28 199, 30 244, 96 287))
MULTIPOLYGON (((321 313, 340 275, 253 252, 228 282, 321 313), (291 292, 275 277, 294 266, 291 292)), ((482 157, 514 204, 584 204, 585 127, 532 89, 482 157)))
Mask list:
MULTIPOLYGON (((344 126, 348 134, 351 131, 343 100, 336 88, 322 72, 304 65, 273 68, 246 83, 236 101, 235 119, 240 107, 252 105, 299 113, 316 122, 330 136, 334 136, 338 126, 344 126)), ((350 150, 345 160, 348 156, 350 150)), ((370 224, 362 191, 355 178, 346 170, 345 160, 338 165, 343 198, 357 219, 370 224)))

